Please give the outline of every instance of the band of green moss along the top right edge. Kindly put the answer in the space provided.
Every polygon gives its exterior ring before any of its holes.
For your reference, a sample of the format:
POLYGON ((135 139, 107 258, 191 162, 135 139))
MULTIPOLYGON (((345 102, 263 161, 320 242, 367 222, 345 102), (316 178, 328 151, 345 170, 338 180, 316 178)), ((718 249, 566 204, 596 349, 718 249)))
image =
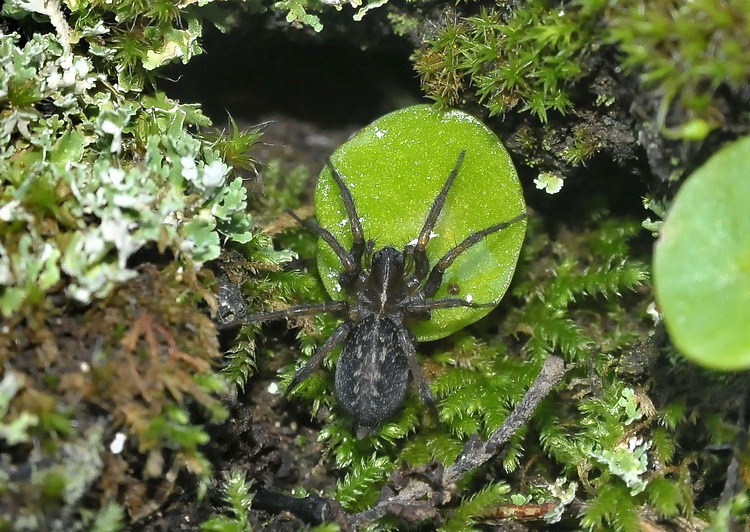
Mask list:
MULTIPOLYGON (((588 92, 578 82, 590 80, 598 56, 614 46, 621 66, 659 101, 657 126, 700 140, 724 121, 720 88, 739 96, 750 81, 748 36, 747 0, 497 2, 447 22, 415 53, 414 65, 442 106, 470 93, 491 115, 529 111, 546 122, 550 111, 584 103, 571 94, 588 92)), ((611 103, 595 96, 597 104, 611 103)))

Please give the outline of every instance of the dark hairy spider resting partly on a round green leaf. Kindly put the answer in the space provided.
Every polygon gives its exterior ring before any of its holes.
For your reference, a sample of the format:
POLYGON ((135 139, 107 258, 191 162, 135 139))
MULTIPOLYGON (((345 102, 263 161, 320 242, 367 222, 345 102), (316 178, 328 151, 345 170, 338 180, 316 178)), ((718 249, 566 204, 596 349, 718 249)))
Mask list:
POLYGON ((391 246, 375 251, 375 242, 365 239, 351 192, 330 158, 326 164, 344 203, 353 237, 351 248, 345 249, 336 237, 317 223, 303 220, 294 212, 287 211, 297 223, 315 233, 336 254, 343 267, 339 284, 347 299, 296 305, 246 316, 222 326, 230 328, 244 323, 324 312, 343 318, 344 321, 294 375, 285 397, 343 343, 335 372, 336 398, 352 417, 358 434, 369 433, 399 409, 406 395, 409 374, 416 382, 422 401, 434 405, 435 397, 417 362, 415 336, 406 325, 411 321, 429 320, 431 312, 438 309, 493 306, 457 297, 432 297, 440 288, 443 273, 459 255, 487 235, 501 231, 526 216, 524 212, 507 222, 470 234, 430 267, 425 250, 465 154, 466 150, 459 154, 456 165, 430 207, 419 236, 403 251, 391 246))

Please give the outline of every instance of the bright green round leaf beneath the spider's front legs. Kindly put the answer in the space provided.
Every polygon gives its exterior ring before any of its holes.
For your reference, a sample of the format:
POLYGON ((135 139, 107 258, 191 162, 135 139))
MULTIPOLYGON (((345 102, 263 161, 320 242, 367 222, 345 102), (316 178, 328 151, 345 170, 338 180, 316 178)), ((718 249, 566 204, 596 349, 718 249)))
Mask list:
MULTIPOLYGON (((403 250, 417 238, 462 150, 466 156, 427 246, 433 265, 468 235, 525 212, 515 168, 494 133, 466 113, 417 105, 376 120, 334 152, 331 162, 351 190, 365 237, 375 240, 375 249, 403 250)), ((349 249, 346 211, 327 167, 318 179, 315 206, 320 225, 349 249)), ((497 304, 510 283, 525 231, 524 219, 468 249, 445 272, 435 298, 497 304)), ((319 250, 323 283, 332 298, 341 299, 341 264, 322 241, 319 250)), ((490 310, 435 311, 412 330, 420 341, 442 338, 490 310)))

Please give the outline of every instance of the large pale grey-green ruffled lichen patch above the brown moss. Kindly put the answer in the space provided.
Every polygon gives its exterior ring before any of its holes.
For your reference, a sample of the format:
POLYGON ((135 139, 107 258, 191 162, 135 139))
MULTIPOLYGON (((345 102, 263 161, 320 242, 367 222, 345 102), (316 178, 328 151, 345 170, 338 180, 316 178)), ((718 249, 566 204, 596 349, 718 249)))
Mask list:
POLYGON ((66 54, 55 37, 37 34, 23 48, 18 41, 0 37, 4 315, 62 272, 71 298, 103 297, 136 275, 128 259, 149 244, 200 264, 218 257, 220 235, 249 241, 241 179, 188 132, 208 123, 202 115, 160 93, 123 103, 98 90, 89 58, 66 54), (45 99, 64 112, 45 117, 35 105, 45 99), (59 202, 53 218, 67 227, 57 234, 41 229, 50 214, 35 208, 42 195, 59 202), (85 221, 91 216, 97 223, 85 221))

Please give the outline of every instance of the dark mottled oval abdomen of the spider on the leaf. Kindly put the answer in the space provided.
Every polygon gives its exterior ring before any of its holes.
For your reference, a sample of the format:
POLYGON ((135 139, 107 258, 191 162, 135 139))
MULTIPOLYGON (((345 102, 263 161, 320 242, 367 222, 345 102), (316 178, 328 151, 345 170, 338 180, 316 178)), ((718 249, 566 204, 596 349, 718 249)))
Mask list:
POLYGON ((375 427, 404 402, 409 365, 390 318, 368 316, 352 327, 336 365, 336 397, 360 427, 375 427))

